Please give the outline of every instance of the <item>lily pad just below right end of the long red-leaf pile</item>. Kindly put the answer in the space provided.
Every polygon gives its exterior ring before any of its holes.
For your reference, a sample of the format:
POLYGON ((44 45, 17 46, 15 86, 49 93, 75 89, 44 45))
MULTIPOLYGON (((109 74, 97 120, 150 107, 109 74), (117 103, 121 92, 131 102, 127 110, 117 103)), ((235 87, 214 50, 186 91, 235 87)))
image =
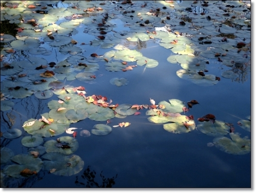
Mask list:
POLYGON ((101 106, 97 106, 96 112, 89 113, 88 115, 88 118, 94 121, 107 121, 113 117, 115 117, 113 110, 101 106))

